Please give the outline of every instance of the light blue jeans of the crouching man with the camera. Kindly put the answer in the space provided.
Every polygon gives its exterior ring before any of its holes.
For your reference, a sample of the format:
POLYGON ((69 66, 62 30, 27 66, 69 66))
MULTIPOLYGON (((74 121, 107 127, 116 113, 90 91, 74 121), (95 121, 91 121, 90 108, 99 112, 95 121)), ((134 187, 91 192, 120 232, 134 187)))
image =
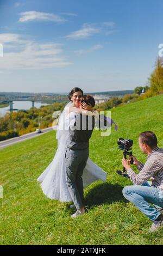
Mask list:
POLYGON ((163 208, 163 191, 160 188, 145 184, 126 186, 123 196, 133 203, 151 221, 159 217, 159 209, 163 208), (153 204, 155 208, 151 205, 153 204))

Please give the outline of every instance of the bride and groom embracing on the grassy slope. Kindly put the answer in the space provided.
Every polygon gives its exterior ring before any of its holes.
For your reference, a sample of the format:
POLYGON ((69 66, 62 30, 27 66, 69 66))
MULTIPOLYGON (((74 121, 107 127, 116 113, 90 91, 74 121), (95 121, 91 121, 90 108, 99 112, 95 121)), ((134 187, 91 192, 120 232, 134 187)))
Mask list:
POLYGON ((60 115, 57 127, 57 152, 37 181, 41 182, 42 191, 48 198, 72 201, 70 207, 77 210, 71 215, 74 218, 85 212, 83 188, 97 180, 106 181, 106 172, 89 158, 89 139, 95 126, 92 113, 95 99, 83 95, 78 87, 71 90, 68 99, 70 103, 60 115))

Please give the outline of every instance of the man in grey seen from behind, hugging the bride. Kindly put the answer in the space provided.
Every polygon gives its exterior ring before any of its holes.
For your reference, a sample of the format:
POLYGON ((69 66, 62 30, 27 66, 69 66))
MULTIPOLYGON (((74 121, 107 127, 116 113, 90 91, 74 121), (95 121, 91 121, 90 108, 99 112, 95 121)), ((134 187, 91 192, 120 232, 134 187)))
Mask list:
MULTIPOLYGON (((95 107, 95 99, 90 95, 80 98, 79 108, 84 103, 95 107)), ((77 211, 71 215, 76 218, 84 214, 84 191, 82 174, 89 157, 89 139, 91 138, 95 118, 75 112, 70 113, 69 137, 65 153, 66 184, 77 211)))

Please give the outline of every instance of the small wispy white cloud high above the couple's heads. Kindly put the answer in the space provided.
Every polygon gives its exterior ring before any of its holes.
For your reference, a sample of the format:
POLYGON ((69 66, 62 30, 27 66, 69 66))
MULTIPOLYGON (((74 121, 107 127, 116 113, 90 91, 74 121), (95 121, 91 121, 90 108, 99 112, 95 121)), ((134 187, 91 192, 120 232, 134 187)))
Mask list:
POLYGON ((72 32, 70 35, 67 35, 66 38, 72 38, 72 39, 88 38, 93 34, 99 33, 99 31, 100 31, 100 28, 96 28, 96 27, 93 27, 93 25, 84 23, 81 29, 79 29, 78 31, 72 32))

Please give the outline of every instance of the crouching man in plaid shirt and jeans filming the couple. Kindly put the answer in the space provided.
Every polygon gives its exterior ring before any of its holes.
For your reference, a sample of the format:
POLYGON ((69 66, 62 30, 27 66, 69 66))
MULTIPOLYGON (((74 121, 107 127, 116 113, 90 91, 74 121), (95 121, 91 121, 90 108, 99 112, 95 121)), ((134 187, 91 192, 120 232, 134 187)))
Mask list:
POLYGON ((126 168, 133 186, 123 188, 123 196, 132 202, 143 214, 153 221, 151 232, 163 227, 163 149, 157 146, 158 141, 155 134, 145 131, 139 135, 139 147, 144 154, 147 154, 145 164, 133 157, 134 164, 140 170, 136 174, 130 167, 130 160, 122 159, 122 165, 126 168), (148 179, 152 179, 149 185, 148 179), (153 206, 152 206, 152 205, 153 206), (154 208, 155 206, 155 208, 154 208))

